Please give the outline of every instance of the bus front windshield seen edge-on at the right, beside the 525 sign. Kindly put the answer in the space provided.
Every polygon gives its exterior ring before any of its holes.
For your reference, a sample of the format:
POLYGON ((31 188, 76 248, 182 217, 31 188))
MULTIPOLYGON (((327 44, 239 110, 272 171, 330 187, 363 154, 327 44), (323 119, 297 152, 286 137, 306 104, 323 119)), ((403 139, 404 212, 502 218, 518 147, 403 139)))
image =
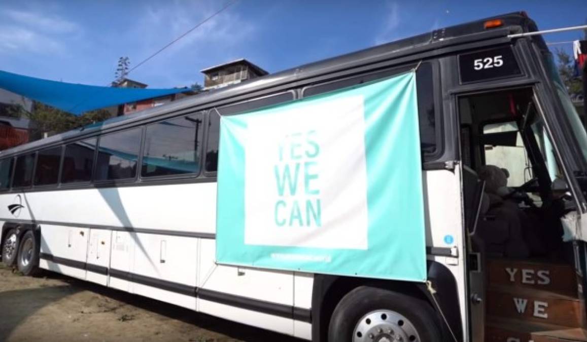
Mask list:
POLYGON ((544 57, 544 64, 546 69, 548 69, 548 76, 554 81, 556 94, 561 100, 565 115, 569 120, 569 124, 571 124, 573 135, 575 136, 576 142, 581 148, 583 160, 587 161, 587 133, 585 133, 585 128, 583 127, 581 118, 579 118, 579 114, 575 110, 575 106, 573 106, 573 103, 569 98, 569 94, 566 91, 565 84, 562 82, 561 76, 558 74, 558 70, 556 70, 554 57, 551 53, 544 53, 542 56, 544 57))

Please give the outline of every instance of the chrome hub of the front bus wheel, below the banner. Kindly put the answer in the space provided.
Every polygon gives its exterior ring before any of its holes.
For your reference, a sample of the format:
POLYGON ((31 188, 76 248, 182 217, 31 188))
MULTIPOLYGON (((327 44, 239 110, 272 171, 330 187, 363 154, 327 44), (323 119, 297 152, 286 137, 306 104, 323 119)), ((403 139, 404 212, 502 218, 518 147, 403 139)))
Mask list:
POLYGON ((411 322, 392 310, 375 310, 357 322, 353 342, 420 342, 411 322))

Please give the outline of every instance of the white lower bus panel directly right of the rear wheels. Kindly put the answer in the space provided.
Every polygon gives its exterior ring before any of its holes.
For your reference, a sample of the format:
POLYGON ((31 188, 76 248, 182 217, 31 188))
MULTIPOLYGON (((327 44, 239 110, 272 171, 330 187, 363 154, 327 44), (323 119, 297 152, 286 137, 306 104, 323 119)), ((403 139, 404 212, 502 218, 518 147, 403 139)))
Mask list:
POLYGON ((41 225, 42 268, 86 279, 89 228, 41 225))

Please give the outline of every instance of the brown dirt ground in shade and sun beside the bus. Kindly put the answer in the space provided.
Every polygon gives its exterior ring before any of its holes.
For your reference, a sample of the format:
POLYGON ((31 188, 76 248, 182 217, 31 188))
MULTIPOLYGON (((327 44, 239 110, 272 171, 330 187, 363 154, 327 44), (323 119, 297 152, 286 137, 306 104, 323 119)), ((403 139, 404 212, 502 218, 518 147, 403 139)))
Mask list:
POLYGON ((46 273, 0 264, 0 341, 278 341, 281 334, 46 273))

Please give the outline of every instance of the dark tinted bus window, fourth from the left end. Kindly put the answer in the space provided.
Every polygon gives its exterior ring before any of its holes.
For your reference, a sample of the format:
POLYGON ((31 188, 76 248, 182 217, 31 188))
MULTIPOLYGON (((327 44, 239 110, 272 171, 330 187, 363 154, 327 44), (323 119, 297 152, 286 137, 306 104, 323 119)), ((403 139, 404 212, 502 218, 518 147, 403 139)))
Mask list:
POLYGON ((65 145, 61 182, 89 182, 92 180, 96 138, 65 145))

